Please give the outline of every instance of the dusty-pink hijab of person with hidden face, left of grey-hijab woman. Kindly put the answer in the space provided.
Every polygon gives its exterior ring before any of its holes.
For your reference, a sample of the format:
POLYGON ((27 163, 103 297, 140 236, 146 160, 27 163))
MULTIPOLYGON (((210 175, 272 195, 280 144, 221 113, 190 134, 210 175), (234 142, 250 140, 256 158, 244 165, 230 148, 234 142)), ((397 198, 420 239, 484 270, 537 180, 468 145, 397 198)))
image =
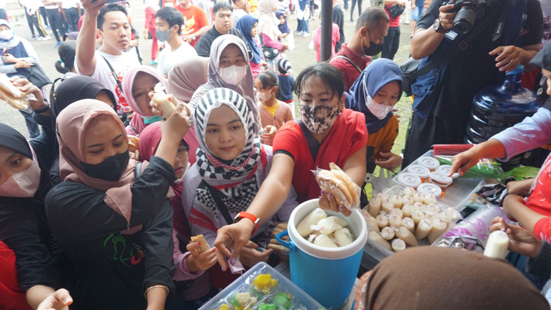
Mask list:
POLYGON ((200 56, 188 56, 172 67, 168 73, 168 92, 176 99, 189 103, 191 96, 209 81, 209 59, 200 56))

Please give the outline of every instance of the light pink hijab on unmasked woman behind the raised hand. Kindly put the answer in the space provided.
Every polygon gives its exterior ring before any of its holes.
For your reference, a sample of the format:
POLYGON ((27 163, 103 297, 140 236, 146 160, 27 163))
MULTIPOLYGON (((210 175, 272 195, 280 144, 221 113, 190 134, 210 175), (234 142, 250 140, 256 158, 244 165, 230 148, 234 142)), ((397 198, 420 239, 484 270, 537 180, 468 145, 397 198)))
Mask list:
MULTIPOLYGON (((126 100, 128 101, 128 104, 130 105, 130 108, 132 108, 132 111, 134 111, 136 114, 132 118, 132 121, 130 121, 130 126, 132 126, 132 129, 134 130, 135 134, 140 134, 142 130, 147 126, 145 123, 143 123, 142 116, 145 116, 143 114, 143 111, 138 106, 138 103, 136 103, 136 100, 134 99, 134 95, 132 94, 132 86, 134 85, 134 79, 136 79, 136 75, 138 73, 144 72, 149 75, 152 75, 160 81, 160 83, 163 84, 165 87, 165 90, 167 89, 167 83, 165 82, 165 79, 163 79, 163 76, 160 76, 156 70, 153 68, 147 66, 147 65, 138 65, 138 67, 131 68, 126 72, 125 76, 123 77, 123 92, 125 93, 126 100)), ((129 134, 134 134, 134 132, 129 132, 129 134)))

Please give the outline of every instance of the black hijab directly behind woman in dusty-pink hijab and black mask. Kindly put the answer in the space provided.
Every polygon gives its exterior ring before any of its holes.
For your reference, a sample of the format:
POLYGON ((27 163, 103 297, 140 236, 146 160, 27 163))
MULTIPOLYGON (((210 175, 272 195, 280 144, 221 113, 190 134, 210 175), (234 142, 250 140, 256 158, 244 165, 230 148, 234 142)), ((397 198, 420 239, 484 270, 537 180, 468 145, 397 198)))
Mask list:
POLYGON ((52 101, 52 115, 56 118, 61 110, 67 105, 82 99, 94 99, 99 92, 104 91, 113 102, 116 109, 116 100, 113 93, 107 90, 103 84, 99 83, 90 76, 78 75, 61 82, 54 91, 54 100, 52 101))

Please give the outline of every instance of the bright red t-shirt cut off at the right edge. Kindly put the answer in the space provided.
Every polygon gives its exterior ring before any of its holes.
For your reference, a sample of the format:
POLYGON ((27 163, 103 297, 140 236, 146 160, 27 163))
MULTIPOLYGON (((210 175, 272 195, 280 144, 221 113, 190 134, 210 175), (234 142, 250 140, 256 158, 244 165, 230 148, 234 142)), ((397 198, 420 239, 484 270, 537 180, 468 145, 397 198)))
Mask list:
MULTIPOLYGON (((539 174, 536 185, 528 196, 526 207, 544 216, 551 216, 551 163, 550 158, 545 161, 539 174)), ((542 218, 534 225, 534 236, 551 242, 551 218, 542 218)))

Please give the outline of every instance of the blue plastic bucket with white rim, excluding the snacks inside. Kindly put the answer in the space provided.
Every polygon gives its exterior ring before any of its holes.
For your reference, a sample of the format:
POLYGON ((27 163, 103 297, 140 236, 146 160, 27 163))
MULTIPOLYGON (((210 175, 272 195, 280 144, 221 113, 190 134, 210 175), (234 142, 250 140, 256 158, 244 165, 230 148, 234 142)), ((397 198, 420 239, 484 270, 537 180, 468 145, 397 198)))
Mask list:
POLYGON ((314 245, 298 234, 296 226, 317 207, 318 199, 298 205, 291 213, 288 230, 275 238, 281 245, 289 248, 291 281, 327 309, 339 309, 346 303, 354 287, 367 241, 367 227, 360 211, 355 210, 348 217, 326 211, 329 216, 344 218, 349 223, 347 228, 355 240, 350 245, 339 248, 314 245), (281 240, 287 234, 289 242, 281 240))

